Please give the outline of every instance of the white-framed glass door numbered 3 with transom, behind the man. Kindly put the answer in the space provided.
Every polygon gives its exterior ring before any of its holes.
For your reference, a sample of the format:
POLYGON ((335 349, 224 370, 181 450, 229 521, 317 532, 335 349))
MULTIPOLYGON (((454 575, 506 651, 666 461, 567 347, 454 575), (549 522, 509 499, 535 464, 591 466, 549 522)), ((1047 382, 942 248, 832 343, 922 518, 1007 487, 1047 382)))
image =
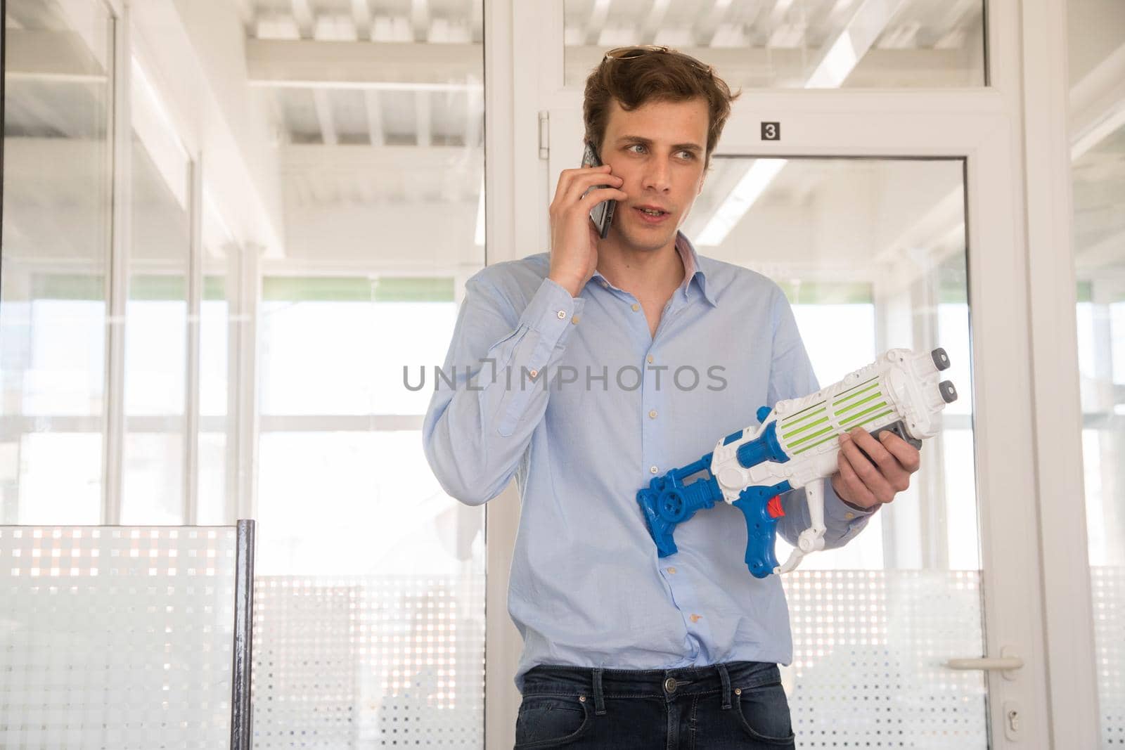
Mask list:
MULTIPOLYGON (((1026 293, 1012 283, 1023 262, 1010 218, 1014 82, 983 85, 982 8, 963 3, 946 22, 936 3, 889 3, 878 18, 863 15, 878 3, 835 3, 853 7, 832 21, 834 3, 828 15, 775 3, 771 21, 768 8, 750 19, 716 6, 718 20, 702 28, 701 11, 676 37, 628 3, 550 4, 538 45, 556 52, 534 72, 544 206, 580 154, 584 71, 600 61, 587 47, 677 46, 744 87, 682 227, 699 253, 782 287, 821 385, 890 347, 943 346, 953 361, 960 399, 910 489, 783 581, 794 636, 783 679, 800 747, 1046 737, 1040 603, 1026 572, 1038 567, 1036 518, 1020 499, 1034 495, 1034 467, 1026 293), (920 43, 939 28, 948 54, 920 43), (809 60, 771 42, 785 34, 809 60), (908 58, 917 75, 896 69, 908 58), (899 90, 860 90, 872 87, 899 90), (986 668, 1009 656, 1023 667, 986 668)), ((674 27, 678 6, 655 4, 674 27)), ((1002 34, 989 38, 1007 49, 1002 34)))

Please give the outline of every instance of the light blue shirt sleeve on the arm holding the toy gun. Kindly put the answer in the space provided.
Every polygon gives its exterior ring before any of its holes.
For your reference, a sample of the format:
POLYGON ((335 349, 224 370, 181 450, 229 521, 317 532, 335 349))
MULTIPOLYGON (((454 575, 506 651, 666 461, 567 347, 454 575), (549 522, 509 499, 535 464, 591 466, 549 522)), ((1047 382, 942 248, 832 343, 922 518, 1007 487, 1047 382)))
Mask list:
MULTIPOLYGON (((800 398, 820 390, 820 383, 812 371, 812 363, 804 351, 801 333, 796 328, 793 309, 781 289, 774 289, 773 305, 773 360, 770 368, 770 383, 766 398, 773 406, 786 398, 800 398)), ((839 498, 830 481, 825 487, 825 549, 847 544, 863 527, 880 506, 861 510, 839 498)), ((790 544, 796 544, 802 531, 811 525, 809 503, 804 488, 790 490, 782 496, 785 515, 777 523, 777 531, 790 544)))

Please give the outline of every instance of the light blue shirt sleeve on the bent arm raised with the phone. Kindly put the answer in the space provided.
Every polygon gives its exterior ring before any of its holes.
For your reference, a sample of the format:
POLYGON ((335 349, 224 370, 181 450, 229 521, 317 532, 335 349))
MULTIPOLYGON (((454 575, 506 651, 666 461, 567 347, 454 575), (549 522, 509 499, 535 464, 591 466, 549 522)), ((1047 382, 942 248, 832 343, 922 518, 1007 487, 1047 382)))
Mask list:
POLYGON ((422 425, 448 495, 480 505, 515 473, 548 401, 548 374, 585 304, 543 279, 522 313, 480 273, 469 279, 422 425))

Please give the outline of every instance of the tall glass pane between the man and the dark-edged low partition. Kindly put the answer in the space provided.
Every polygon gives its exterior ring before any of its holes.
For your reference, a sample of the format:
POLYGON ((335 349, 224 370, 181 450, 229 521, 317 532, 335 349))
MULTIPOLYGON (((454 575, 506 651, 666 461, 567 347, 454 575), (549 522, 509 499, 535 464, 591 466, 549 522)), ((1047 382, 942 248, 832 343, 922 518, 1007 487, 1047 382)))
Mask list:
POLYGON ((444 361, 485 264, 484 3, 252 4, 286 234, 259 284, 254 747, 480 748, 484 508, 431 473, 404 367, 444 361), (370 69, 273 72, 310 42, 370 69))

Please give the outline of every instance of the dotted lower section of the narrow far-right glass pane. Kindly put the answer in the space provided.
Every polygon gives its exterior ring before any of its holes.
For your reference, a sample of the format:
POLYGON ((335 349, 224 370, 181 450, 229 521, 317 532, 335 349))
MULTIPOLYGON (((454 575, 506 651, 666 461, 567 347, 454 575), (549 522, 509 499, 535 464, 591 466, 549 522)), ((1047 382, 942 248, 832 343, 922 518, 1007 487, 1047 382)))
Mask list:
POLYGON ((1090 567, 1101 743, 1125 747, 1125 568, 1090 567))

